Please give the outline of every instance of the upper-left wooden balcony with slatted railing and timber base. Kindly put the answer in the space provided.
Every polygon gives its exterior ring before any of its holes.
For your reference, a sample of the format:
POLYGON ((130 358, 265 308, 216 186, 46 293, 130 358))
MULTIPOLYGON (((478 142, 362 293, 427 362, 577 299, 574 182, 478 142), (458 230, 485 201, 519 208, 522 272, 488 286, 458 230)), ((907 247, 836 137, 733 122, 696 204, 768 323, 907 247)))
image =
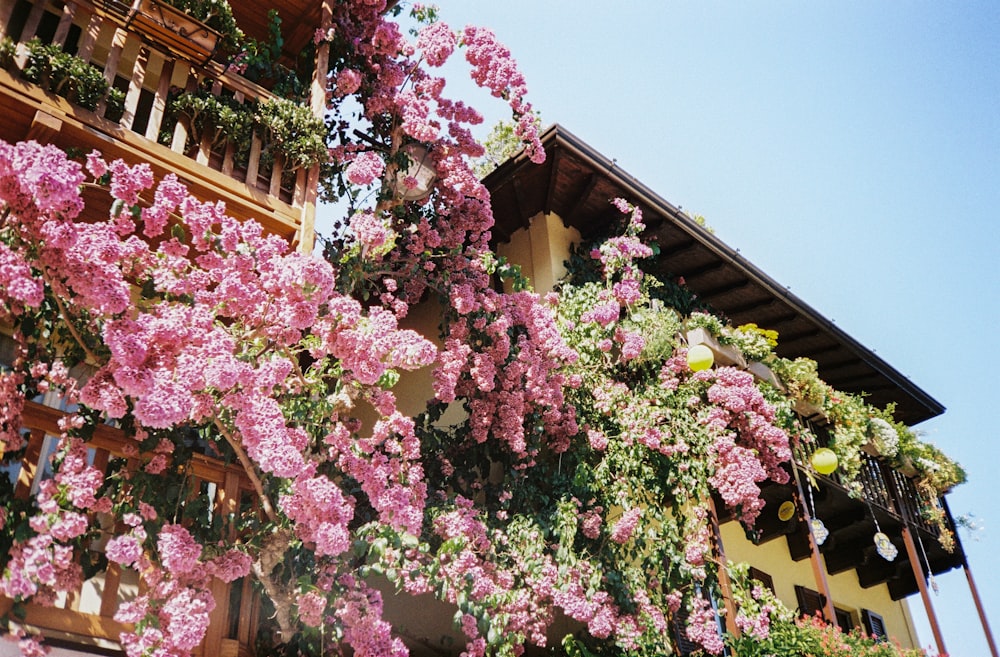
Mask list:
POLYGON ((269 233, 311 249, 315 167, 286 171, 283 157, 266 157, 254 134, 249 152, 231 144, 194 143, 185 120, 167 107, 177 90, 208 89, 237 103, 271 93, 224 63, 140 31, 127 14, 109 11, 110 0, 0 0, 0 37, 18 44, 15 65, 0 69, 0 138, 35 139, 63 148, 100 150, 105 158, 147 162, 159 178, 175 173, 203 200, 221 200, 230 215, 254 218, 269 233), (57 44, 101 71, 125 94, 124 112, 112 116, 102 101, 93 110, 24 80, 25 47, 32 39, 57 44), (272 161, 273 160, 273 161, 272 161))

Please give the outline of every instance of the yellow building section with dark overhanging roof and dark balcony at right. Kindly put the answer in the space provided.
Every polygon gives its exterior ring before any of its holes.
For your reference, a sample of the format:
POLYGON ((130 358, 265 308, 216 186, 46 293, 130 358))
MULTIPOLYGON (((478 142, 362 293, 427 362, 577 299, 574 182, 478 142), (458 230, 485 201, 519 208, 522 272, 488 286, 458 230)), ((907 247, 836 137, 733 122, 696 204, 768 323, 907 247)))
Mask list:
MULTIPOLYGON (((683 278, 733 325, 753 322, 778 331, 779 356, 815 360, 820 376, 834 388, 866 393, 874 406, 895 404, 897 419, 907 425, 944 412, 889 363, 578 137, 556 125, 545 132, 543 143, 545 164, 515 157, 485 179, 497 218, 497 251, 522 263, 537 291, 551 289, 564 274, 570 244, 601 234, 615 220, 617 211, 608 200, 622 197, 643 209, 647 239, 659 245, 652 273, 683 278)), ((821 441, 828 439, 823 438, 826 419, 815 408, 802 408, 801 415, 821 441)), ((812 471, 809 457, 796 455, 788 485, 764 490, 768 508, 794 501, 799 509, 794 515, 763 514, 756 535, 749 538, 739 523, 720 518, 720 548, 726 558, 749 563, 752 574, 789 608, 819 611, 845 630, 863 627, 869 634, 894 637, 904 647, 919 647, 907 602, 919 595, 921 602, 912 613, 927 614, 942 653, 947 637, 938 627, 927 577, 963 568, 993 646, 962 547, 953 552, 941 547, 938 529, 919 512, 913 480, 866 456, 860 497, 849 495, 836 474, 817 476, 812 489, 806 474, 812 471), (811 518, 822 520, 829 532, 820 545, 807 529, 811 518), (897 552, 891 561, 877 552, 873 536, 878 531, 891 538, 897 552)), ((943 498, 942 504, 954 530, 943 498)))

